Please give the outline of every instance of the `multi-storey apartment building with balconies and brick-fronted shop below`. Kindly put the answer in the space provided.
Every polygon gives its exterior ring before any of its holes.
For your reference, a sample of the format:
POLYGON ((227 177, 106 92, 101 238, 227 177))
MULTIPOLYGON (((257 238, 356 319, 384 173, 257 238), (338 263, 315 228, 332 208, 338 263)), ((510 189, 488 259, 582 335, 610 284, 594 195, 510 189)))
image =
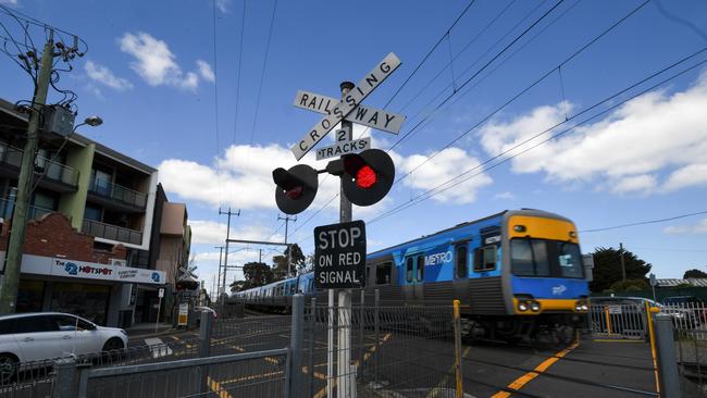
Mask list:
MULTIPOLYGON (((0 99, 2 259, 26 126, 27 115, 0 99)), ((186 206, 169 202, 157 170, 78 133, 42 132, 34 181, 17 311, 66 311, 124 327, 153 322, 158 289, 171 294, 190 244, 186 206)))

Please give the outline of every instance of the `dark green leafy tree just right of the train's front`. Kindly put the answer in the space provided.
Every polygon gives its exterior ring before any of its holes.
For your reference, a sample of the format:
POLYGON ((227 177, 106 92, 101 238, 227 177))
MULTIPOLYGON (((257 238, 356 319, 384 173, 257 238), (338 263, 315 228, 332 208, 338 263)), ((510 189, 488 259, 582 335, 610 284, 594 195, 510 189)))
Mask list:
MULTIPOLYGON (((590 283, 592 291, 604 291, 621 281, 621 250, 613 248, 596 248, 594 250, 594 281, 590 283)), ((646 279, 650 272, 650 264, 638 259, 634 253, 623 250, 623 262, 627 270, 627 285, 629 279, 646 279)), ((635 286, 635 283, 633 284, 635 286)))

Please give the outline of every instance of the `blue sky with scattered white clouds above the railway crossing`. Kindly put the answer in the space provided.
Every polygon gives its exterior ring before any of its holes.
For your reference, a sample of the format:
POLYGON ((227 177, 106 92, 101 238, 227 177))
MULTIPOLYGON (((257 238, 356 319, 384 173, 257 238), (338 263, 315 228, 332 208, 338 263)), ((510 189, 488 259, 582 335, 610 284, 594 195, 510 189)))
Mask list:
MULTIPOLYGON (((285 238, 271 172, 296 164, 289 148, 322 117, 293 105, 297 90, 338 97, 389 52, 401 66, 363 103, 407 120, 397 136, 354 128, 388 150, 398 179, 354 209, 369 251, 533 208, 574 221, 583 252, 622 242, 658 277, 707 271, 705 1, 0 3, 87 42, 58 83, 78 96, 78 120, 104 120, 79 132, 159 169, 170 200, 187 203, 209 289, 226 233, 219 209, 240 211, 233 238, 285 238)), ((0 97, 30 98, 8 57, 0 76, 0 97)), ((322 174, 289 223, 305 253, 313 227, 337 222, 337 192, 322 174)), ((265 260, 280 250, 235 245, 228 262, 259 249, 265 260)))

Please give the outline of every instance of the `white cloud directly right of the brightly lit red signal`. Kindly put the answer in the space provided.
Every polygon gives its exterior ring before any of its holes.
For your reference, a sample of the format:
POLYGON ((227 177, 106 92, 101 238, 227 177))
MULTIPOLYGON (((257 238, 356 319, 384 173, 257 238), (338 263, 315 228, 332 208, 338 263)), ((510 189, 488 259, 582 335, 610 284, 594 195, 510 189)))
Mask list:
MULTIPOLYGON (((459 175, 461 171, 472 169, 480 164, 476 158, 470 156, 463 149, 454 147, 443 150, 430 161, 427 161, 430 156, 425 154, 412 154, 408 158, 395 154, 393 158, 401 176, 407 173, 412 173, 402 179, 402 184, 422 191, 436 188, 438 185, 459 175), (414 170, 415 166, 425 161, 427 162, 424 165, 414 170)), ((473 202, 476 199, 476 191, 493 182, 488 175, 483 173, 471 177, 482 170, 480 167, 479 171, 471 172, 458 181, 442 186, 438 190, 441 194, 435 195, 433 197, 434 200, 457 204, 473 202), (467 177, 471 178, 463 181, 467 177), (454 185, 457 182, 459 184, 454 185), (449 189, 445 190, 445 188, 449 189)))

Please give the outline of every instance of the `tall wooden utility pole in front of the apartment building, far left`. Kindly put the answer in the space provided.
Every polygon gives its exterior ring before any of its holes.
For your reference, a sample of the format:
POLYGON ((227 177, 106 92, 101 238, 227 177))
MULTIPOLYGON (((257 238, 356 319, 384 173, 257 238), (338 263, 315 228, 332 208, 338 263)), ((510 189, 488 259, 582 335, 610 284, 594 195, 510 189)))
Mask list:
POLYGON ((41 52, 41 66, 32 99, 32 113, 29 114, 29 123, 27 125, 27 140, 22 156, 20 176, 17 177, 17 197, 12 214, 12 229, 10 233, 10 242, 8 244, 4 276, 0 284, 0 313, 15 312, 17 285, 20 284, 20 270, 22 266, 22 246, 25 241, 27 210, 35 173, 35 157, 39 144, 39 121, 47 102, 53 59, 54 32, 50 29, 49 39, 45 42, 45 48, 41 52))

